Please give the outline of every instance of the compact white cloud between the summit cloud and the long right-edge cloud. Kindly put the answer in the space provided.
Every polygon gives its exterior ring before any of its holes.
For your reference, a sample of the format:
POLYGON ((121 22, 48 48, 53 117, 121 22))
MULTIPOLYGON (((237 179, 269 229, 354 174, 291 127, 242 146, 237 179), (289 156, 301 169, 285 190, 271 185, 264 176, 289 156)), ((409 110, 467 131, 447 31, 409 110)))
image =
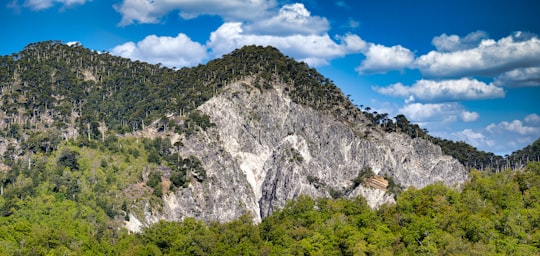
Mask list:
POLYGON ((366 59, 360 63, 356 71, 360 74, 386 73, 390 70, 402 70, 412 65, 414 54, 401 45, 386 47, 379 44, 369 44, 363 52, 366 59))

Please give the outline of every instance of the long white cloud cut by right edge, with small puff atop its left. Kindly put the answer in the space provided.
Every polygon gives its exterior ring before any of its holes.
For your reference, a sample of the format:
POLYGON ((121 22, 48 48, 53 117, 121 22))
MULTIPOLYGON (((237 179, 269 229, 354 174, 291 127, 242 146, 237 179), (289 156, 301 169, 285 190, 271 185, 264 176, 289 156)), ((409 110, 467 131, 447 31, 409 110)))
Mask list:
POLYGON ((536 35, 516 32, 499 41, 483 39, 475 48, 468 48, 470 45, 459 40, 452 45, 450 42, 455 39, 451 37, 438 37, 434 44, 440 49, 456 51, 431 51, 416 59, 416 67, 422 74, 437 77, 496 75, 540 65, 540 40, 536 35), (462 47, 465 49, 457 50, 462 47))

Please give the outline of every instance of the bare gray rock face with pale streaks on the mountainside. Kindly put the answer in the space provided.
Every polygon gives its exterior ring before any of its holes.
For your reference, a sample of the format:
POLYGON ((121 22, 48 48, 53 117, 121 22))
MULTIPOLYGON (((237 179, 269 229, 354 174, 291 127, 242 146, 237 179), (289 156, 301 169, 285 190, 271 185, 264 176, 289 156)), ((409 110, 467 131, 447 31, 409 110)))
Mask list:
POLYGON ((367 126, 296 104, 282 89, 260 91, 245 80, 200 106, 216 126, 184 139, 181 154, 197 156, 208 178, 164 195, 150 219, 230 221, 250 213, 260 221, 302 194, 363 196, 371 207, 394 202, 384 189, 353 182, 367 168, 403 187, 467 179, 457 160, 428 141, 375 130, 366 136, 367 126))

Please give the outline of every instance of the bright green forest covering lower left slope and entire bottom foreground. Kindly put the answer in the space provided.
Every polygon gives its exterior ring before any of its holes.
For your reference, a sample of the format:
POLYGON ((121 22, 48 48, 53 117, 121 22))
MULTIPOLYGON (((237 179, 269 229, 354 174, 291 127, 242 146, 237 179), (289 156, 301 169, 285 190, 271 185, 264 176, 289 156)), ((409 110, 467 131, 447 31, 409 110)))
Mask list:
POLYGON ((538 162, 473 171, 461 190, 409 188, 377 210, 363 198, 301 196, 261 223, 248 215, 229 223, 187 218, 130 234, 122 224, 140 209, 133 205, 158 205, 162 193, 200 182, 204 172, 196 159, 175 160, 167 140, 109 138, 62 141, 2 172, 0 255, 540 253, 538 162))

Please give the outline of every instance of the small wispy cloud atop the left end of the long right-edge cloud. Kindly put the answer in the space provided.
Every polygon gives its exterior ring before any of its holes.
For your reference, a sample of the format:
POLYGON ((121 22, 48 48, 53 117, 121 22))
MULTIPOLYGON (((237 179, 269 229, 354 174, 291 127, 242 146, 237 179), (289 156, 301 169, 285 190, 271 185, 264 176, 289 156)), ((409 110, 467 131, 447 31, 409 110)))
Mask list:
POLYGON ((476 31, 468 34, 464 38, 458 35, 446 35, 442 34, 433 38, 432 44, 441 52, 454 52, 472 49, 478 46, 478 44, 487 38, 487 34, 483 31, 476 31))

